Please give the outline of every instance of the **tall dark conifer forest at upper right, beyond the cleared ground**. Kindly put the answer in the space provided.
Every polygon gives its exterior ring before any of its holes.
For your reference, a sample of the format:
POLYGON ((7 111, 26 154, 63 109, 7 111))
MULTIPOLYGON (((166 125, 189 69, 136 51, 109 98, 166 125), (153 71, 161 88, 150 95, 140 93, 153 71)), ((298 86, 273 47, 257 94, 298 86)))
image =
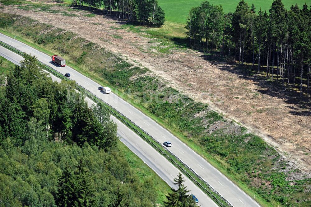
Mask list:
POLYGON ((311 65, 311 7, 284 8, 274 0, 269 11, 241 0, 235 12, 202 2, 189 11, 186 24, 189 44, 197 49, 216 49, 239 64, 252 64, 283 89, 298 85, 300 97, 309 98, 311 65))

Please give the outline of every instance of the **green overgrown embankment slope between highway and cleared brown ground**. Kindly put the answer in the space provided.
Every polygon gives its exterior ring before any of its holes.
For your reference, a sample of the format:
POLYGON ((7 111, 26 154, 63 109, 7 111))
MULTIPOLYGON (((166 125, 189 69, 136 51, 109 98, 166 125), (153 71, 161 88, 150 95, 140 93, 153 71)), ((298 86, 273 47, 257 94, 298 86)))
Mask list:
MULTIPOLYGON (((244 191, 263 206, 278 206, 290 203, 293 206, 308 206, 308 193, 303 193, 310 180, 295 181, 291 186, 286 177, 286 163, 280 161, 277 152, 259 137, 244 134, 240 128, 236 134, 223 133, 225 129, 207 132, 215 123, 225 122, 208 106, 185 97, 165 83, 148 75, 148 69, 132 67, 92 42, 77 38, 76 34, 63 32, 45 24, 22 17, 12 20, 12 15, 0 15, 1 32, 46 52, 64 56, 68 65, 89 76, 102 85, 118 89, 118 95, 131 102, 144 113, 168 128, 183 142, 203 155, 221 172, 237 183, 244 191), (32 26, 30 26, 32 24, 32 26), (28 25, 25 27, 25 25, 28 25), (48 31, 49 32, 42 32, 48 31), (67 43, 67 44, 63 44, 67 43), (139 95, 128 94, 128 91, 139 95), (157 96, 159 102, 151 101, 157 96), (200 116, 196 116, 200 113, 200 116), (284 172, 281 172, 281 171, 284 172)), ((129 30, 135 26, 124 25, 129 30)), ((226 123, 234 127, 233 123, 226 123)))

